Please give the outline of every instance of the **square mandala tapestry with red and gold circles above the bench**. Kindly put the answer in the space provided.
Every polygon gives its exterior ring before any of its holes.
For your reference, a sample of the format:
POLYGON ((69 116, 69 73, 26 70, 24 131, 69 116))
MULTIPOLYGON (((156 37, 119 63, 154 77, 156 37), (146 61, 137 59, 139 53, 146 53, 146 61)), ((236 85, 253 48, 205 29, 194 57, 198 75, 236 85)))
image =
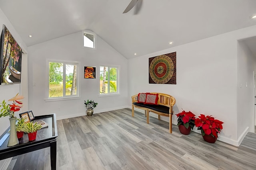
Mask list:
POLYGON ((176 52, 151 57, 148 64, 150 84, 176 84, 176 52))

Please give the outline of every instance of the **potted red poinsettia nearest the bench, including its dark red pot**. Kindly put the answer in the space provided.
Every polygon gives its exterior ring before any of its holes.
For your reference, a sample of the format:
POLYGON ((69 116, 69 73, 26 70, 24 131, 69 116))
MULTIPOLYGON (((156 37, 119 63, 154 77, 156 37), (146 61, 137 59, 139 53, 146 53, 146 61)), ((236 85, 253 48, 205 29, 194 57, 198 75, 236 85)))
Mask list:
POLYGON ((176 114, 176 116, 178 117, 178 127, 180 130, 180 133, 182 133, 183 135, 188 135, 190 134, 191 129, 194 128, 195 126, 195 116, 194 113, 192 113, 191 111, 182 111, 178 114, 176 114))

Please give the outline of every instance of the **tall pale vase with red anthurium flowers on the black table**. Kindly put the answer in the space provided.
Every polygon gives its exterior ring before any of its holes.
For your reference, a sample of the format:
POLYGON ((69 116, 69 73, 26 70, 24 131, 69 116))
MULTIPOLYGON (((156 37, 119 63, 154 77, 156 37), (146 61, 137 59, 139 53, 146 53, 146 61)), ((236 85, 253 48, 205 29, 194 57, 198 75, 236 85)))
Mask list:
POLYGON ((19 143, 15 127, 16 117, 14 116, 14 112, 19 111, 22 107, 22 102, 20 100, 23 98, 23 96, 19 96, 18 94, 16 94, 16 96, 8 100, 12 101, 12 104, 6 104, 5 100, 0 103, 0 108, 2 107, 0 117, 10 117, 10 137, 7 144, 8 147, 17 145, 19 143))

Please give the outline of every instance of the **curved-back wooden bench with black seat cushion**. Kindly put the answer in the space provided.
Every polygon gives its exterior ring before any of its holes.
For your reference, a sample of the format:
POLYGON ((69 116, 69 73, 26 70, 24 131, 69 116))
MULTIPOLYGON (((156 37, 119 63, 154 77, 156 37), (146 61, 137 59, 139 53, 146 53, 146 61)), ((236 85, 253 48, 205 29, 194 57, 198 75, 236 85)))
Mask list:
POLYGON ((173 110, 172 107, 176 103, 174 97, 163 94, 163 93, 150 93, 150 94, 158 94, 158 105, 149 105, 138 102, 138 94, 132 96, 132 117, 134 117, 134 107, 145 110, 145 116, 147 117, 147 123, 149 123, 149 112, 158 114, 158 120, 161 120, 160 116, 169 117, 169 131, 172 133, 172 115, 173 110))

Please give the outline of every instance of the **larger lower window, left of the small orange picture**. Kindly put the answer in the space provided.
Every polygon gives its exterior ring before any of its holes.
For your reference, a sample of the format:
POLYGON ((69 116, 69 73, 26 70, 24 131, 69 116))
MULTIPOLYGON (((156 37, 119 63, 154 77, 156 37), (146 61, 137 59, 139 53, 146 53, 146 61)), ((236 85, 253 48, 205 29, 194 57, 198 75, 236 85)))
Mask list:
POLYGON ((78 63, 48 61, 48 99, 78 96, 78 63))

